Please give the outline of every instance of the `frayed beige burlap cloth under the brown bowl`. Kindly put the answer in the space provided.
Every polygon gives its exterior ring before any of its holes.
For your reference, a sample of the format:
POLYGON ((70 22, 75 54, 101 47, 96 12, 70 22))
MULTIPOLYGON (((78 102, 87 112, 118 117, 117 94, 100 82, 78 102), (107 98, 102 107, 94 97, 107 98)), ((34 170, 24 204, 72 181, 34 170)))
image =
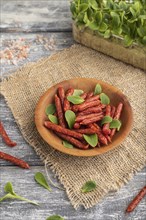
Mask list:
POLYGON ((30 63, 1 83, 2 94, 23 137, 58 176, 75 208, 95 205, 144 167, 145 89, 146 74, 143 71, 79 45, 30 63), (123 144, 115 150, 90 158, 68 156, 53 150, 38 134, 34 110, 40 96, 55 83, 74 77, 104 80, 128 96, 134 112, 134 126, 123 144), (82 194, 81 186, 90 179, 96 181, 96 190, 82 194))

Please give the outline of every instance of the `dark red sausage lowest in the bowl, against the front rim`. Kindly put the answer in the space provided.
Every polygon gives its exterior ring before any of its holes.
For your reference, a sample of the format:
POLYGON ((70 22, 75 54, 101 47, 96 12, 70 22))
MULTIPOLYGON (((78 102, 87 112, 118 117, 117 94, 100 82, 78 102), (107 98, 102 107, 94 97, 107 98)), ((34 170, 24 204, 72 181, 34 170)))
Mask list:
POLYGON ((88 144, 85 145, 85 144, 83 144, 81 141, 79 141, 79 140, 77 140, 77 139, 75 139, 75 138, 73 138, 73 137, 70 137, 70 136, 67 136, 67 135, 64 135, 64 134, 61 134, 61 133, 58 133, 58 132, 57 132, 57 135, 58 135, 59 137, 61 137, 62 139, 64 139, 64 140, 70 142, 71 144, 73 144, 73 145, 76 146, 77 148, 84 149, 84 150, 86 150, 86 149, 89 148, 89 145, 88 145, 88 144))

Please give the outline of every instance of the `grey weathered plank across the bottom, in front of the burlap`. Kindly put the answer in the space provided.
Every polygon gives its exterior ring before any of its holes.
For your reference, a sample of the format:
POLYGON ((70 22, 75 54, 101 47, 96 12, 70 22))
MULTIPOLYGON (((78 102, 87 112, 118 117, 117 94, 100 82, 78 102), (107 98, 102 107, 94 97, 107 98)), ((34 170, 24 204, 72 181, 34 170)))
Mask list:
MULTIPOLYGON (((146 216, 146 197, 131 214, 125 214, 125 209, 132 198, 144 186, 146 169, 138 173, 133 180, 118 192, 112 192, 93 208, 85 210, 80 207, 77 211, 70 204, 65 191, 52 187, 52 192, 40 187, 34 181, 36 172, 44 172, 43 167, 32 167, 21 170, 13 167, 1 169, 0 188, 11 181, 16 193, 40 203, 39 207, 21 201, 4 201, 0 204, 0 217, 5 220, 45 220, 53 214, 60 214, 66 220, 144 220, 146 216), (23 172, 23 176, 22 176, 23 172)), ((55 181, 51 172, 50 177, 55 181)), ((56 181, 55 181, 56 182, 56 181)))

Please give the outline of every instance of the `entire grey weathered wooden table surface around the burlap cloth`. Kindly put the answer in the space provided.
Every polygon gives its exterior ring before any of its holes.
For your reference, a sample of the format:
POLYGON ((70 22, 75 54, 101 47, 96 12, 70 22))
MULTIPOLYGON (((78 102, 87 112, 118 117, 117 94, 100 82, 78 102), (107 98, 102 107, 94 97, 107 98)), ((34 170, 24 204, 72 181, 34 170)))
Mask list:
MULTIPOLYGON (((1 47, 10 39, 25 38, 30 43, 29 57, 18 65, 2 63, 2 78, 10 75, 18 66, 36 61, 55 51, 71 46, 74 41, 71 33, 71 14, 67 0, 2 0, 1 1, 1 47), (56 45, 54 50, 46 50, 36 43, 37 35, 50 39, 53 36, 56 45)), ((43 172, 44 165, 34 150, 27 144, 16 125, 15 119, 5 100, 1 97, 0 118, 9 136, 17 142, 15 148, 7 147, 2 140, 0 150, 27 161, 31 169, 22 170, 11 163, 0 160, 0 196, 4 195, 4 185, 11 181, 20 195, 40 203, 39 207, 21 201, 6 200, 0 203, 1 220, 45 220, 53 214, 59 214, 66 220, 145 220, 146 200, 143 199, 131 214, 125 209, 134 195, 145 185, 146 169, 138 172, 134 178, 118 192, 111 192, 93 208, 85 210, 80 207, 74 210, 64 191, 53 188, 49 193, 34 181, 35 172, 43 172)), ((54 174, 49 171, 54 182, 54 174)))

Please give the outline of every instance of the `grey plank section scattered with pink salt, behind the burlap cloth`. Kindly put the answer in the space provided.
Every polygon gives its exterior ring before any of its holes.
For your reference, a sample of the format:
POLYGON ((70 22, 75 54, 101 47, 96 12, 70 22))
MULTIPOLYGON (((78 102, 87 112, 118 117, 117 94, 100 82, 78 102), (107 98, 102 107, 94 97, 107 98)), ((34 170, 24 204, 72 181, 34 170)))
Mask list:
MULTIPOLYGON (((42 57, 49 56, 59 50, 62 50, 66 47, 71 46, 74 43, 72 33, 71 32, 60 32, 60 33, 41 33, 41 34, 31 34, 31 33, 2 33, 1 34, 1 50, 4 50, 7 47, 7 44, 10 40, 18 40, 20 38, 24 38, 26 44, 30 45, 30 52, 27 59, 18 63, 18 66, 22 66, 28 62, 34 62, 42 57), (41 43, 37 43, 37 36, 43 36, 47 39, 53 38, 55 41, 55 47, 53 50, 46 50, 44 45, 41 43)), ((1 64, 1 76, 5 77, 16 69, 18 66, 11 64, 7 64, 4 62, 1 64)))

